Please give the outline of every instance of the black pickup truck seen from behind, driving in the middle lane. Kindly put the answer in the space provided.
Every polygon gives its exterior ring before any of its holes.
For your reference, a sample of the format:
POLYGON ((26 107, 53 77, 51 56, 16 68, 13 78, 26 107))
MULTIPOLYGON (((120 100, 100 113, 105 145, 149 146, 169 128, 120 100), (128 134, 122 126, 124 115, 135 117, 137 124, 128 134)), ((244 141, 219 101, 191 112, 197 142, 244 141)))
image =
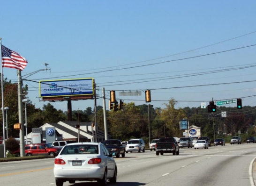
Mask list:
POLYGON ((156 143, 156 155, 159 153, 163 155, 164 153, 173 153, 173 155, 179 155, 179 145, 175 138, 173 137, 164 137, 160 138, 158 143, 156 143))

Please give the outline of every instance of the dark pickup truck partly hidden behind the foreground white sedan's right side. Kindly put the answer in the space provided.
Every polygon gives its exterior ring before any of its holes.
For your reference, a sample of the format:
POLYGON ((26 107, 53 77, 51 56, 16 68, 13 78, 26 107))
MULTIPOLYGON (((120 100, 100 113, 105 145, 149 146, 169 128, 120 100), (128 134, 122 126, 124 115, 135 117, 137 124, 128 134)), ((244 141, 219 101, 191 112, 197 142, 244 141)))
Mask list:
POLYGON ((120 157, 121 154, 122 157, 125 157, 125 145, 122 145, 121 140, 105 140, 103 144, 105 144, 107 150, 112 154, 112 156, 120 157))

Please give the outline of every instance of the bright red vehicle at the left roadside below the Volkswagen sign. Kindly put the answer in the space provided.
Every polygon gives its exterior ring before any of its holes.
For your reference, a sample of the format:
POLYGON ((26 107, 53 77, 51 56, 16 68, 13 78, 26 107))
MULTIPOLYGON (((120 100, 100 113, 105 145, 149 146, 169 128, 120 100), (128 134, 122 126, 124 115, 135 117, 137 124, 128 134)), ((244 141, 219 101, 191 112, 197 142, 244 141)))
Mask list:
POLYGON ((56 157, 60 153, 60 150, 61 148, 49 148, 44 143, 25 145, 26 156, 48 155, 56 157))

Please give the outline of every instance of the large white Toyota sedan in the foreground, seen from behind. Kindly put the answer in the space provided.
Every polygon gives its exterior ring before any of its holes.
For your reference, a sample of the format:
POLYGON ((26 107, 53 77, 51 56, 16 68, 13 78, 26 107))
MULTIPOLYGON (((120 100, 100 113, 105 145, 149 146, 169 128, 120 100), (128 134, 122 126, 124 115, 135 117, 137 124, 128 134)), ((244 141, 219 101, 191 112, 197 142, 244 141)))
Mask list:
POLYGON ((56 186, 68 181, 98 181, 106 186, 107 180, 116 183, 117 166, 103 143, 70 143, 54 160, 56 186))

